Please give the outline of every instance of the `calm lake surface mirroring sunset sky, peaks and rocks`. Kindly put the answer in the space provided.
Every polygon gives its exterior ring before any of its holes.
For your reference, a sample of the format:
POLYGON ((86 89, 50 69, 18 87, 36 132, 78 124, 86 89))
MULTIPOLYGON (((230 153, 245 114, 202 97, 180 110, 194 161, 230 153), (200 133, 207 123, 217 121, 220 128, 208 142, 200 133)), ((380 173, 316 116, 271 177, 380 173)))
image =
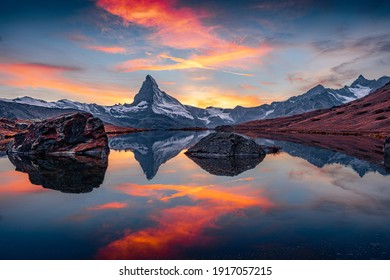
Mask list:
POLYGON ((188 158, 204 135, 120 136, 108 164, 0 155, 0 259, 390 259, 383 165, 269 139, 188 158))

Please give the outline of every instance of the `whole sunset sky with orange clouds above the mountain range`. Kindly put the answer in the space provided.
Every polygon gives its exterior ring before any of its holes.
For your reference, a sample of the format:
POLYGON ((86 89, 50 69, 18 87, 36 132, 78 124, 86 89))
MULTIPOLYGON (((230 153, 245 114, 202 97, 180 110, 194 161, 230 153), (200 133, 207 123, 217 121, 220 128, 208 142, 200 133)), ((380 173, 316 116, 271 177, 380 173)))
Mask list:
POLYGON ((390 1, 12 0, 0 97, 132 102, 145 76, 184 104, 254 106, 390 75, 390 1))

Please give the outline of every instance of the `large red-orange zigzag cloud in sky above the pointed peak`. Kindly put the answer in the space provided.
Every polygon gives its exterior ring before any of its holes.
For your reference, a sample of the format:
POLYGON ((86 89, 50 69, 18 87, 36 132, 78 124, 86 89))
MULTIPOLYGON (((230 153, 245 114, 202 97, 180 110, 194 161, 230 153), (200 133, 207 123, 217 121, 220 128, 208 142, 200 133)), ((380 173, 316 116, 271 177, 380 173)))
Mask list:
POLYGON ((162 54, 154 61, 129 60, 117 66, 121 71, 199 68, 251 76, 225 68, 245 68, 248 64, 258 64, 259 58, 271 50, 266 44, 251 47, 219 37, 215 26, 206 26, 202 22, 204 18, 212 16, 210 13, 178 6, 175 0, 98 0, 97 5, 121 17, 126 24, 135 23, 150 28, 153 33, 149 40, 157 44, 176 49, 194 49, 197 53, 189 58, 162 54), (167 61, 158 63, 161 58, 167 61), (168 61, 170 63, 166 63, 168 61))

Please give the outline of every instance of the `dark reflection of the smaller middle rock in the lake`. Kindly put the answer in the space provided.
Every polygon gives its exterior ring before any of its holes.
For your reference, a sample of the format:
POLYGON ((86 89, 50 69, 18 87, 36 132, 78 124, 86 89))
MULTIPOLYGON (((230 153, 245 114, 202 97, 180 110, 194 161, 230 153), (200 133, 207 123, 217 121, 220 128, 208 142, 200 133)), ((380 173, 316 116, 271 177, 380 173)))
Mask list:
POLYGON ((265 158, 265 155, 258 157, 220 157, 204 158, 189 156, 193 162, 203 170, 217 176, 237 176, 247 170, 255 168, 265 158))

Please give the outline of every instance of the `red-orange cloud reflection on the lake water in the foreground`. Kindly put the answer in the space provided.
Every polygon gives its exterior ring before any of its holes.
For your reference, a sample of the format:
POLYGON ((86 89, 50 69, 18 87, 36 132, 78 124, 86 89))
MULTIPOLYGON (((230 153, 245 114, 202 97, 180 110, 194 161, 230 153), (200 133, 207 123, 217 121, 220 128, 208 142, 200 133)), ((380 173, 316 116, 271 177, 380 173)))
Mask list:
POLYGON ((205 230, 218 227, 218 218, 226 214, 237 215, 242 209, 250 207, 265 211, 274 207, 258 188, 245 186, 226 188, 125 184, 118 189, 130 195, 139 193, 165 202, 186 196, 195 205, 180 205, 159 211, 151 217, 157 223, 156 226, 127 231, 121 239, 102 248, 97 256, 99 259, 178 258, 187 247, 207 246, 211 243, 214 237, 208 236, 205 230), (134 192, 134 189, 137 191, 134 192), (175 193, 169 194, 172 191, 175 193))

